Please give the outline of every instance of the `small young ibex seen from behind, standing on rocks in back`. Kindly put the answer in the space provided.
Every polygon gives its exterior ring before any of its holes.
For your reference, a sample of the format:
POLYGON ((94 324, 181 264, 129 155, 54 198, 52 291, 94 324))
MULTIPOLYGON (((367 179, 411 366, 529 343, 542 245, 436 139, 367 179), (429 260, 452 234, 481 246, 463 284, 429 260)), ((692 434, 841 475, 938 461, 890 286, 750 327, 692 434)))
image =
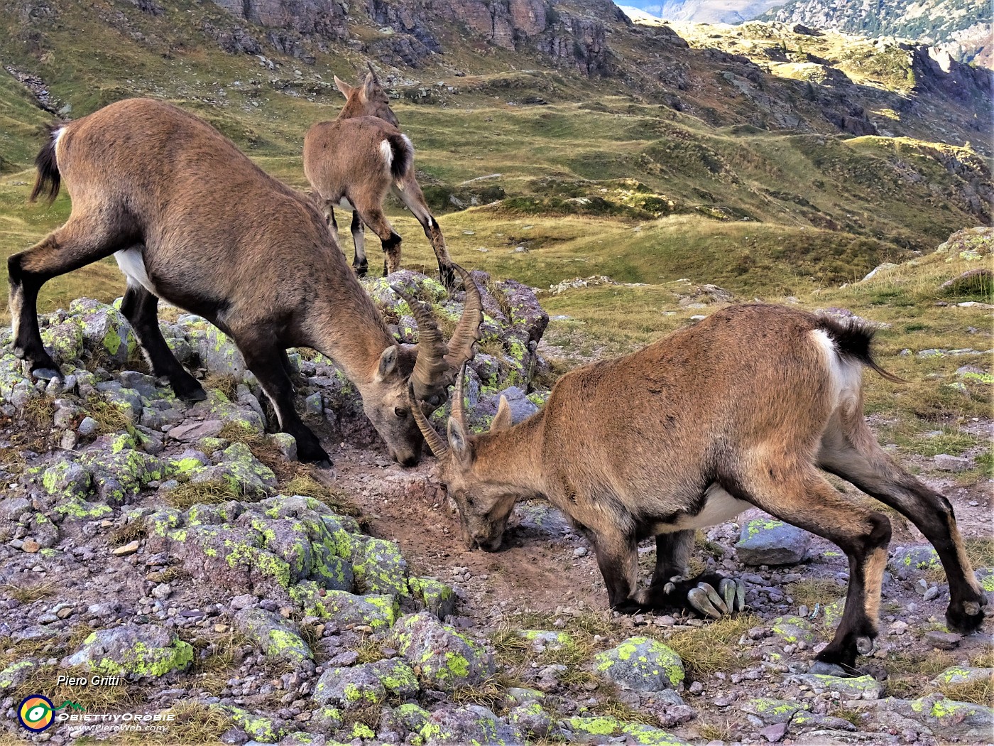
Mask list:
POLYGON ((397 128, 397 116, 376 73, 370 66, 366 81, 355 88, 337 76, 335 85, 347 99, 338 118, 318 122, 304 136, 304 174, 328 225, 337 236, 335 206, 351 209, 356 272, 364 276, 369 268, 363 224, 383 243, 384 274, 396 272, 401 267, 401 237, 383 213, 383 200, 393 191, 424 229, 441 281, 451 289, 452 260, 414 178, 414 146, 397 128))

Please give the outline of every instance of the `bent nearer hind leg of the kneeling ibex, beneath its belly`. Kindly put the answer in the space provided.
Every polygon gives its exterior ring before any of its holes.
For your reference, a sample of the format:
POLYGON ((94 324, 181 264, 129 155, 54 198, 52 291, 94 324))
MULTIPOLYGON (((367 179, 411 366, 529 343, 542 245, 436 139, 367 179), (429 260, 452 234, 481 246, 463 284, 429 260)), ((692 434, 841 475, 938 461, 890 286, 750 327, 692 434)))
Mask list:
POLYGON ((883 513, 844 500, 814 466, 792 470, 755 464, 720 478, 735 497, 780 520, 821 536, 849 558, 846 608, 835 638, 818 653, 822 671, 855 672, 858 653, 873 652, 878 635, 880 594, 891 541, 891 521, 883 513))

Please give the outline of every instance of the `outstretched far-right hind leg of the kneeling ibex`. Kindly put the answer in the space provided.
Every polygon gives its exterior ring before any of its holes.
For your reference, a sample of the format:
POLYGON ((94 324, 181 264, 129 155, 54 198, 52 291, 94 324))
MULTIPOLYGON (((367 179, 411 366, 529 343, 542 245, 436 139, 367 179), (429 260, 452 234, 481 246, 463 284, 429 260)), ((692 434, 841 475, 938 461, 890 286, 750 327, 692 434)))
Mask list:
POLYGON ((969 633, 984 620, 987 600, 977 585, 952 505, 910 473, 897 466, 880 448, 862 417, 845 426, 829 427, 822 439, 819 466, 852 482, 907 517, 935 547, 949 582, 949 629, 969 633))

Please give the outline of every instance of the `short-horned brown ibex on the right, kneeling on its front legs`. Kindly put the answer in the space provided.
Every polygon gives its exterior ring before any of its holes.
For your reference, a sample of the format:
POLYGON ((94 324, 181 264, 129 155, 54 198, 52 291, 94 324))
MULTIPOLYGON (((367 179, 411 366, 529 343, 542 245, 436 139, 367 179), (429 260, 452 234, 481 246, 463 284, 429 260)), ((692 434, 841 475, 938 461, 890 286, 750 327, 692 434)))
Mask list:
POLYGON ((986 604, 952 506, 897 466, 863 419, 862 367, 894 378, 871 357, 872 336, 862 323, 788 307, 732 306, 568 373, 545 409, 514 427, 501 402, 490 431, 469 435, 461 375, 447 443, 416 407, 414 417, 467 548, 497 549, 515 502, 547 498, 590 538, 619 612, 741 609, 736 581, 683 574, 694 529, 748 507, 839 545, 850 564, 845 612, 813 669, 838 674, 873 650, 891 523, 819 469, 900 511, 932 543, 949 580, 950 629, 975 630, 986 604), (655 572, 638 589, 636 545, 651 536, 655 572))

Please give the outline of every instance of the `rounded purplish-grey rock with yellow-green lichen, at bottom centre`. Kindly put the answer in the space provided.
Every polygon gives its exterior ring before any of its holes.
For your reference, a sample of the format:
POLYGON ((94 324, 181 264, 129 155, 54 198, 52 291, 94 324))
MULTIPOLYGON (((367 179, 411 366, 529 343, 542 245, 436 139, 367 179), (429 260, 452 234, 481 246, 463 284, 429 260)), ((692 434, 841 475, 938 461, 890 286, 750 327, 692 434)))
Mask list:
POLYGON ((428 612, 402 617, 391 639, 421 679, 439 691, 478 684, 495 670, 490 653, 428 612))

